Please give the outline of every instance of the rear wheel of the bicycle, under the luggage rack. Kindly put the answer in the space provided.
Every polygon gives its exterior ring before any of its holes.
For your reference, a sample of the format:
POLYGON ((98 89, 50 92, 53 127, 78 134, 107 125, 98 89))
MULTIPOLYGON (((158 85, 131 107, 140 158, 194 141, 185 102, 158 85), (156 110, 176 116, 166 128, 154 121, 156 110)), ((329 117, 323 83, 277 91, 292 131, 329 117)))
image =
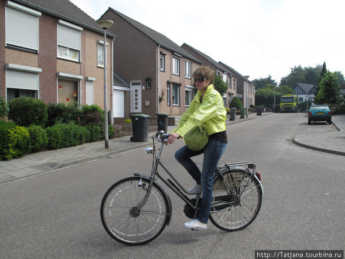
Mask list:
POLYGON ((262 191, 259 182, 243 169, 224 169, 221 175, 225 181, 221 176, 213 181, 209 219, 222 230, 241 230, 253 222, 260 211, 262 191))

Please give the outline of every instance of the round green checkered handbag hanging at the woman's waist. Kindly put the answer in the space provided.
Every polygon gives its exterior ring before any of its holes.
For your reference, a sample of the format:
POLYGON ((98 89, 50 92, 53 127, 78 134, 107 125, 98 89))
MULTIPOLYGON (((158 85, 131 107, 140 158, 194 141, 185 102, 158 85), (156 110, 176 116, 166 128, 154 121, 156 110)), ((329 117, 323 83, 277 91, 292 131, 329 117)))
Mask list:
POLYGON ((183 136, 183 141, 192 150, 203 149, 208 142, 208 135, 204 125, 196 126, 183 136))

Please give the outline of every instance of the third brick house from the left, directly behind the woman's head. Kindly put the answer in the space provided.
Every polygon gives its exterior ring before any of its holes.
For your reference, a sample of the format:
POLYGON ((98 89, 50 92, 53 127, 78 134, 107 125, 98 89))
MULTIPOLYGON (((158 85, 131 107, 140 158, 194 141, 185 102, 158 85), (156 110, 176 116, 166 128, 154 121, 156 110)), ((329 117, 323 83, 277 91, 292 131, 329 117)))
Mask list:
POLYGON ((226 67, 221 65, 220 63, 213 60, 211 57, 207 56, 203 52, 193 48, 192 46, 183 43, 181 48, 185 49, 193 56, 198 58, 200 61, 204 63, 205 66, 209 66, 211 69, 217 72, 222 78, 224 82, 228 82, 228 89, 227 93, 223 95, 223 103, 225 107, 229 107, 229 104, 234 96, 236 96, 236 89, 237 79, 226 67))

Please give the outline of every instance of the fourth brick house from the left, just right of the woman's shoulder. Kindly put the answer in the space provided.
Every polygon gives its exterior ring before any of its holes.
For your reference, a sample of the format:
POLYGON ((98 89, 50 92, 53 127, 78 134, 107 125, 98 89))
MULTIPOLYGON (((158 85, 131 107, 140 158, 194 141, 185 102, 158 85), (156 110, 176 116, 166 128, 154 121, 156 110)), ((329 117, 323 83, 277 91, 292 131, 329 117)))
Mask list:
POLYGON ((249 108, 251 105, 255 105, 255 85, 248 80, 248 77, 240 74, 233 68, 229 67, 223 62, 219 61, 219 64, 224 66, 234 74, 237 78, 237 94, 236 96, 240 98, 242 106, 249 108))

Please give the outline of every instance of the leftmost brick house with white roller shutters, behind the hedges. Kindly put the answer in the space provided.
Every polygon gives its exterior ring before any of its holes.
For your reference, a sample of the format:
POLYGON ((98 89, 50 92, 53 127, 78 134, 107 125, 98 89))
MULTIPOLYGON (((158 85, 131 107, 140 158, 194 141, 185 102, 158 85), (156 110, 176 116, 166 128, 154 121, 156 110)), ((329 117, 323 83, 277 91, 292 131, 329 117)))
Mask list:
POLYGON ((104 107, 104 31, 89 15, 69 0, 0 0, 0 27, 1 96, 104 107))

